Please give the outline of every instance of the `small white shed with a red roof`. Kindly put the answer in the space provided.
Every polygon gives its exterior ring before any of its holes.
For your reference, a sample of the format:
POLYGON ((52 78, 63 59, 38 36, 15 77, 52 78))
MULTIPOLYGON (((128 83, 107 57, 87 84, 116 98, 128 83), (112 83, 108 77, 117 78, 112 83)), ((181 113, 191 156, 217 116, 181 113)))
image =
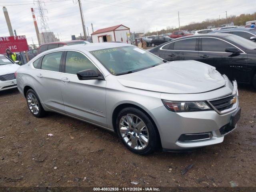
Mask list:
POLYGON ((124 25, 112 26, 104 29, 99 29, 93 32, 92 42, 111 42, 111 41, 120 41, 124 43, 130 43, 130 28, 124 25))

